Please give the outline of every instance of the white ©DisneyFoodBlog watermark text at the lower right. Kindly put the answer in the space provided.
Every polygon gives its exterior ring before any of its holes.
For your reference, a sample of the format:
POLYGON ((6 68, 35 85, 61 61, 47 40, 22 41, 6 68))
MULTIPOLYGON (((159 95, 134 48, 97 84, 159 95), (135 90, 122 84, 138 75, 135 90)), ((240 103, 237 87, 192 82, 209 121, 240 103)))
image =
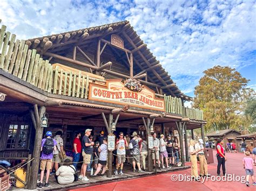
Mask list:
MULTIPOLYGON (((235 174, 227 174, 226 176, 198 176, 198 180, 200 180, 201 183, 204 183, 205 181, 237 181, 241 183, 245 183, 245 176, 238 176, 235 174)), ((191 175, 187 174, 172 174, 171 175, 172 181, 193 181, 191 175)))

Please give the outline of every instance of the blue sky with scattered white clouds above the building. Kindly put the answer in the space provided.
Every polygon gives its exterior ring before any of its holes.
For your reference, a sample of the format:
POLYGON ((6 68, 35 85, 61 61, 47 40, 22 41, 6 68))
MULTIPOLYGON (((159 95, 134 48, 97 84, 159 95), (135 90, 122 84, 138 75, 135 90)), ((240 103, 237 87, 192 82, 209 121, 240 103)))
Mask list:
POLYGON ((256 88, 255 1, 1 1, 0 19, 19 39, 129 20, 181 91, 203 71, 236 68, 256 88))

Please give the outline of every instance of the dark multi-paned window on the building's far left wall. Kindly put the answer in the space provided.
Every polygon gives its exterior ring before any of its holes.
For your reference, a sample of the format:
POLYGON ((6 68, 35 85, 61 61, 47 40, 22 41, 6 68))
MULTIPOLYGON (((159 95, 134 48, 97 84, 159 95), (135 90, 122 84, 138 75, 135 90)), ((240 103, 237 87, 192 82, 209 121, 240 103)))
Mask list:
POLYGON ((29 125, 10 124, 6 148, 26 149, 28 145, 28 132, 29 132, 29 125))

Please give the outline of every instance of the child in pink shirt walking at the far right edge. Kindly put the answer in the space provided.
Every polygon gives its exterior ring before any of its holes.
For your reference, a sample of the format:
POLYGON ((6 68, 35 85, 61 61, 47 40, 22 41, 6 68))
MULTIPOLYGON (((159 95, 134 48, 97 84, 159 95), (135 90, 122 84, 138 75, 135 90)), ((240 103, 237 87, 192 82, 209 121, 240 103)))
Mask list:
POLYGON ((250 157, 250 152, 246 151, 245 152, 246 157, 242 159, 242 166, 245 168, 245 173, 246 173, 246 186, 249 187, 249 178, 251 176, 252 179, 252 185, 256 186, 256 182, 254 182, 254 176, 253 176, 253 159, 250 157))

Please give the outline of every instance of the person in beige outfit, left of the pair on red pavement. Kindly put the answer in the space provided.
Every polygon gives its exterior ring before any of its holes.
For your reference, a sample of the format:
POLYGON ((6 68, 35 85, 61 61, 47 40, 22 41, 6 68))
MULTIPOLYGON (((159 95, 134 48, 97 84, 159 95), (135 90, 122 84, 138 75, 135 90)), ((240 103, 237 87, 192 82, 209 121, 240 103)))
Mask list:
POLYGON ((194 146, 193 139, 190 140, 189 151, 190 151, 190 160, 191 160, 191 177, 192 179, 199 181, 198 171, 197 171, 197 151, 194 146))

